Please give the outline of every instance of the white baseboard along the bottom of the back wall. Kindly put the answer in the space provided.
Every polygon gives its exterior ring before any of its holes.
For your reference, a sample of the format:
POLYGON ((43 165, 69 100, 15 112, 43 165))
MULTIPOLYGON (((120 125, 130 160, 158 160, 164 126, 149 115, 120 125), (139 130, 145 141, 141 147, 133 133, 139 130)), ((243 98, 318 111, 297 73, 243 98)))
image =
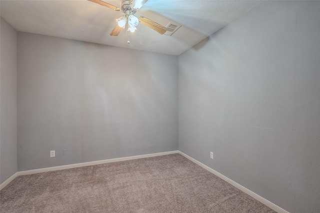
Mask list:
POLYGON ((57 167, 48 167, 48 168, 35 169, 35 170, 26 170, 26 171, 17 172, 17 176, 30 175, 30 174, 41 173, 41 172, 65 170, 65 169, 71 169, 71 168, 76 168, 76 167, 92 166, 92 165, 97 165, 97 164, 106 164, 106 163, 118 162, 118 161, 127 161, 127 160, 139 159, 139 158, 149 158, 149 157, 155 157, 155 156, 160 156, 160 155, 169 155, 169 154, 174 154, 174 153, 178 153, 178 151, 159 152, 159 153, 152 153, 152 154, 146 154, 146 155, 135 155, 135 156, 129 156, 129 157, 123 157, 123 158, 113 158, 113 159, 107 159, 107 160, 101 160, 101 161, 91 161, 91 162, 69 164, 69 165, 63 165, 63 166, 57 166, 57 167))

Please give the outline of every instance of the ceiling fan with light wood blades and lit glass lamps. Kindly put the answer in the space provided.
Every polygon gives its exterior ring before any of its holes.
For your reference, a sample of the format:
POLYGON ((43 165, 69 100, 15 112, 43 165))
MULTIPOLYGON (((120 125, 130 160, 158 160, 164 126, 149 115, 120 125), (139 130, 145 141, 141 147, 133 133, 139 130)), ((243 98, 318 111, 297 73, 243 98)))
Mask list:
MULTIPOLYGON (((121 11, 124 13, 123 16, 117 18, 116 25, 111 31, 110 35, 117 36, 120 31, 123 28, 127 28, 127 31, 134 32, 136 30, 136 26, 140 22, 141 24, 157 31, 160 34, 164 34, 167 28, 165 26, 162 26, 161 24, 158 24, 146 17, 138 16, 136 17, 134 14, 135 12, 147 1, 147 0, 122 0, 121 2, 121 9, 106 3, 102 0, 89 0, 94 3, 98 3, 102 6, 106 6, 108 8, 111 8, 115 11, 121 11)), ((129 41, 128 41, 129 42, 129 41)))

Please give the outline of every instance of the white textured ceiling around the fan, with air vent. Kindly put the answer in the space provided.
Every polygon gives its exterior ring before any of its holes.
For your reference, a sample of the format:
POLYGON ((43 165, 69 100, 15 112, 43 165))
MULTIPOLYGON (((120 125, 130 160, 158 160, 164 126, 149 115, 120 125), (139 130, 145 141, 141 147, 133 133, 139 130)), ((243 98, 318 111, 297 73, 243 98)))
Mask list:
MULTIPOLYGON (((121 0, 104 0, 120 7, 121 0)), ((148 0, 136 12, 166 26, 182 24, 161 35, 139 24, 137 30, 109 36, 123 13, 87 0, 0 0, 0 14, 18 31, 70 38, 118 47, 179 55, 244 14, 259 0, 148 0)))

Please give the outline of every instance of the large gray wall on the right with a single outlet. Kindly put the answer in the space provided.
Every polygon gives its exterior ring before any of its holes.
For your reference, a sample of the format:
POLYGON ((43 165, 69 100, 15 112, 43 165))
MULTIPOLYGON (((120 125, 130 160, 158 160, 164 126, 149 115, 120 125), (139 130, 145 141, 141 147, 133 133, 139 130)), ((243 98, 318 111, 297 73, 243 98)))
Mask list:
POLYGON ((178 57, 179 150, 292 213, 320 212, 319 11, 264 1, 178 57))

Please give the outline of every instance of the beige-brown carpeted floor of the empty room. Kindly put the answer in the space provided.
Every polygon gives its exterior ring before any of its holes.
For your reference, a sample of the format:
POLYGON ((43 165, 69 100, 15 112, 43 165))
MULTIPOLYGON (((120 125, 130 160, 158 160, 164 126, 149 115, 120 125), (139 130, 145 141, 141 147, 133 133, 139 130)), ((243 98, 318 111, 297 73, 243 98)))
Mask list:
POLYGON ((179 154, 19 176, 0 213, 274 213, 179 154))

